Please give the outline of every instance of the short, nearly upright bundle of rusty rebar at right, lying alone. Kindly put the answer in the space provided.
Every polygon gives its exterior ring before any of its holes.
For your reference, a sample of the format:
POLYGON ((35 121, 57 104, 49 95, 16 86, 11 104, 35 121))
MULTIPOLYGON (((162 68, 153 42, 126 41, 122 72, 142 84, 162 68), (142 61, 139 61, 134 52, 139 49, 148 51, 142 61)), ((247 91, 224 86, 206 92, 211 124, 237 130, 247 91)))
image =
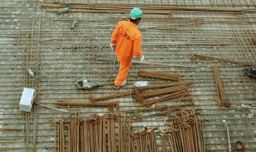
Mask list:
POLYGON ((228 102, 226 99, 226 92, 222 86, 221 77, 219 76, 218 68, 217 66, 212 66, 212 69, 213 69, 215 84, 216 84, 217 93, 218 93, 218 100, 219 100, 219 96, 221 97, 221 101, 218 101, 219 105, 229 107, 231 103, 228 102))

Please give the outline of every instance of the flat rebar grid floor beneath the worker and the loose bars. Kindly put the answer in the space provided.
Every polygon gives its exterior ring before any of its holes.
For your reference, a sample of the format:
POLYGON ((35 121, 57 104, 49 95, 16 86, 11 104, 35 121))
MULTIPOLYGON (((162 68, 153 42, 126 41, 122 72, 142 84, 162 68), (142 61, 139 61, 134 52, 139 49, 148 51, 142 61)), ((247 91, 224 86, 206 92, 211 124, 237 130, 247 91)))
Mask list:
MULTIPOLYGON (((12 1, 18 4, 19 2, 12 1)), ((39 5, 37 1, 27 3, 31 8, 39 5)), ((138 2, 127 1, 127 3, 138 2)), ((143 1, 140 3, 202 7, 203 5, 234 6, 245 9, 254 7, 253 1, 143 1)), ((10 10, 16 7, 8 3, 5 5, 10 10)), ((19 148, 22 151, 26 149, 52 151, 55 142, 54 129, 48 121, 68 115, 36 105, 30 115, 22 114, 18 111, 17 104, 24 86, 39 86, 37 89, 39 99, 35 102, 55 106, 57 99, 86 100, 89 97, 131 91, 132 84, 142 80, 136 76, 136 73, 139 70, 150 70, 179 73, 181 82, 187 80, 194 82, 190 93, 196 108, 200 108, 199 117, 201 120, 209 120, 204 126, 208 151, 227 151, 228 149, 226 128, 222 120, 228 122, 232 146, 237 141, 242 141, 246 151, 255 151, 255 111, 241 107, 241 104, 255 106, 255 99, 253 99, 256 92, 255 79, 243 73, 243 66, 201 59, 190 61, 192 53, 196 53, 255 63, 255 45, 251 41, 256 34, 253 27, 254 13, 245 15, 174 13, 172 17, 153 15, 154 18, 145 16, 145 21, 141 22, 139 28, 143 32, 143 51, 146 60, 196 68, 136 63, 131 67, 128 85, 120 91, 113 90, 113 86, 107 85, 87 92, 77 91, 75 87, 77 79, 87 77, 93 82, 113 82, 118 72, 118 61, 114 59, 114 53, 109 48, 109 37, 118 20, 127 19, 127 15, 117 15, 114 18, 111 15, 96 16, 92 13, 57 17, 37 16, 33 15, 35 12, 30 15, 25 6, 26 1, 24 5, 17 6, 22 12, 19 19, 15 13, 15 16, 8 18, 10 15, 6 17, 6 12, 1 12, 3 16, 1 23, 5 26, 0 31, 8 39, 1 39, 3 47, 0 55, 2 61, 0 126, 4 129, 22 129, 22 131, 0 131, 0 147, 5 148, 8 145, 8 147, 17 148, 17 151, 20 151, 19 148), (30 18, 27 15, 30 15, 30 18), (158 21, 158 17, 163 19, 158 21), (70 30, 73 19, 77 19, 78 23, 73 30, 70 30), (16 26, 19 28, 15 28, 16 26), (99 57, 107 57, 111 60, 97 60, 99 57), (232 103, 230 108, 219 108, 215 102, 217 94, 211 66, 217 66, 221 73, 227 99, 232 103), (28 68, 32 68, 37 73, 35 78, 28 75, 28 68)), ((149 84, 168 82, 155 78, 143 80, 147 80, 149 84)), ((131 96, 115 99, 114 102, 116 101, 120 101, 123 110, 142 108, 131 96)), ((179 103, 190 102, 180 101, 179 103)), ((165 104, 176 105, 175 102, 163 102, 157 106, 165 104)), ((80 106, 58 108, 71 112, 79 111, 83 117, 93 113, 107 112, 107 108, 81 108, 80 106)), ((143 113, 137 113, 137 115, 143 115, 143 113)), ((163 122, 156 120, 157 117, 154 115, 145 117, 143 122, 138 121, 134 126, 138 129, 144 125, 161 128, 164 126, 163 122)))

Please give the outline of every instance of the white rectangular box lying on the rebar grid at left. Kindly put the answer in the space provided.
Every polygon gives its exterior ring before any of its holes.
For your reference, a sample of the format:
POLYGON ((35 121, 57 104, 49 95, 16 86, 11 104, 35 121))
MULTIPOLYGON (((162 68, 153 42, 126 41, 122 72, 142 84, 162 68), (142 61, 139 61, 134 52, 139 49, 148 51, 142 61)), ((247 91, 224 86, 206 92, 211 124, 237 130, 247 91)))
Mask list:
POLYGON ((19 100, 19 111, 30 112, 33 100, 35 98, 35 89, 33 88, 24 88, 21 95, 21 100, 19 100))

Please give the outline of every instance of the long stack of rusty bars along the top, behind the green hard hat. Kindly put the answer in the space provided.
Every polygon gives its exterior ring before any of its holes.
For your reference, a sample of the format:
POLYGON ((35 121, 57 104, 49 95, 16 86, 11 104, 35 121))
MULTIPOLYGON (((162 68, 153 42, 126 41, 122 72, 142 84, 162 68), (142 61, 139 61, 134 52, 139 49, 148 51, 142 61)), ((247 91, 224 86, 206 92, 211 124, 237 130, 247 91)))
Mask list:
MULTIPOLYGON (((113 13, 120 12, 126 13, 132 7, 131 4, 120 4, 120 3, 70 3, 72 10, 81 11, 81 12, 104 12, 104 13, 113 13), (115 11, 114 11, 115 10, 115 11)), ((66 3, 42 3, 42 8, 63 8, 66 6, 66 3)), ((227 13, 227 14, 244 14, 244 12, 255 12, 254 9, 243 9, 243 10, 231 10, 231 9, 217 9, 217 8, 194 8, 194 7, 180 7, 180 6, 163 6, 163 5, 154 5, 154 6, 143 6, 136 4, 137 7, 143 9, 143 13, 147 14, 170 14, 172 11, 181 11, 181 12, 211 12, 211 13, 227 13)), ((55 11, 55 10, 54 10, 55 11)), ((53 12, 53 10, 52 10, 53 12)))

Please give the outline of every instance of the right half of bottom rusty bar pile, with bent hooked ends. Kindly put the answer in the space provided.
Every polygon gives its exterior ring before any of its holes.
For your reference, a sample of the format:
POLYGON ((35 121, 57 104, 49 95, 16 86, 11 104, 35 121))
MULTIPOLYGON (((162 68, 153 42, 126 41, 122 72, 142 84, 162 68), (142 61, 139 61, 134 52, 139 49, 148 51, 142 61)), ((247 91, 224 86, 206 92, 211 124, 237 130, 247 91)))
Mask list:
POLYGON ((164 122, 165 131, 158 131, 157 127, 145 126, 143 131, 131 127, 127 141, 129 151, 206 151, 203 121, 197 119, 194 110, 176 106, 165 115, 164 122))

